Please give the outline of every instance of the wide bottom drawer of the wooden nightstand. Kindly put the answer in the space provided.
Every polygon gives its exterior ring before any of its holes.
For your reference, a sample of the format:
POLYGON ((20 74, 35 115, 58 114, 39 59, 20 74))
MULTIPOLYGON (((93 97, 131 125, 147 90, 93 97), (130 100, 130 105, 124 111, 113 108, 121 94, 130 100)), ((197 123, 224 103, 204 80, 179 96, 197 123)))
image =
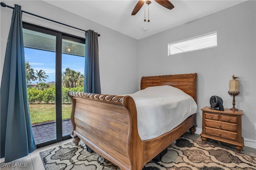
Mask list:
POLYGON ((226 138, 230 140, 237 140, 237 133, 235 132, 228 132, 225 130, 218 130, 218 129, 208 128, 208 127, 205 127, 205 132, 208 135, 217 136, 220 138, 226 138))

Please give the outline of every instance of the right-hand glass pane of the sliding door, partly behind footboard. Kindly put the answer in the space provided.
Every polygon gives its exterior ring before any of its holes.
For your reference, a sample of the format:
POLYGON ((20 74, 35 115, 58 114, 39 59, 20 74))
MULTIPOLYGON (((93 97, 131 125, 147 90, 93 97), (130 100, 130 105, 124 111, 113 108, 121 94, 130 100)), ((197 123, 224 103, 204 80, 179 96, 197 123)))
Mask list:
POLYGON ((62 136, 70 135, 71 101, 68 91, 84 91, 84 42, 62 36, 62 136))

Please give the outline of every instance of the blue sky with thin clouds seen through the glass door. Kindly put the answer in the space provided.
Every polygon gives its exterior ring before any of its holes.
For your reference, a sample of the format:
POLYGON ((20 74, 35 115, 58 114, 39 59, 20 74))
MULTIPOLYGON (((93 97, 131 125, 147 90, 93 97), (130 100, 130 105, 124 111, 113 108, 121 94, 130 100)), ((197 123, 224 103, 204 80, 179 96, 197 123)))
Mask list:
MULTIPOLYGON (((42 69, 48 75, 45 83, 50 81, 55 81, 55 63, 56 63, 55 52, 31 49, 25 47, 25 61, 28 61, 31 67, 39 71, 42 69)), ((76 55, 62 54, 62 73, 65 69, 69 67, 75 71, 79 71, 81 74, 84 74, 84 57, 79 57, 76 55)), ((39 83, 38 80, 32 81, 32 83, 39 83)))

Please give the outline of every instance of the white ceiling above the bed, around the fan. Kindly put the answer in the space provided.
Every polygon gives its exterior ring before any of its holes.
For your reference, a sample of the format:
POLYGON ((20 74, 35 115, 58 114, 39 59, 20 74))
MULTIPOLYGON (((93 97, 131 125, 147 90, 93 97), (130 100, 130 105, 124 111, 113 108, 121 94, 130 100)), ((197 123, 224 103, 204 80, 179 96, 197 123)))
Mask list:
MULTIPOLYGON (((138 0, 45 1, 139 40, 224 10, 246 0, 170 0, 174 5, 172 10, 160 6, 152 0, 149 5, 150 22, 144 22, 144 6, 136 15, 131 15, 138 0), (144 31, 144 29, 147 30, 144 31)), ((148 7, 145 9, 146 20, 148 20, 148 7)))

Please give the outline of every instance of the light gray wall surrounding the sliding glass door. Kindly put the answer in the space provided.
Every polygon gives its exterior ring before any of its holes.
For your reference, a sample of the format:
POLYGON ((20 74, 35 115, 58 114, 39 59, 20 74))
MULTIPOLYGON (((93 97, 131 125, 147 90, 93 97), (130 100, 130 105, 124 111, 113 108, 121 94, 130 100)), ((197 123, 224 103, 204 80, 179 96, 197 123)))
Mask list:
MULTIPOLYGON (((22 10, 68 24, 83 30, 94 30, 101 36, 99 42, 100 81, 104 94, 129 94, 138 90, 138 40, 120 34, 100 24, 52 6, 44 1, 1 0, 9 6, 19 4, 22 10), (124 71, 125 70, 125 71, 124 71)), ((1 12, 1 77, 4 65, 6 42, 10 30, 12 9, 0 7, 1 12)), ((60 30, 77 36, 80 32, 31 15, 22 14, 22 20, 40 26, 60 30)))

